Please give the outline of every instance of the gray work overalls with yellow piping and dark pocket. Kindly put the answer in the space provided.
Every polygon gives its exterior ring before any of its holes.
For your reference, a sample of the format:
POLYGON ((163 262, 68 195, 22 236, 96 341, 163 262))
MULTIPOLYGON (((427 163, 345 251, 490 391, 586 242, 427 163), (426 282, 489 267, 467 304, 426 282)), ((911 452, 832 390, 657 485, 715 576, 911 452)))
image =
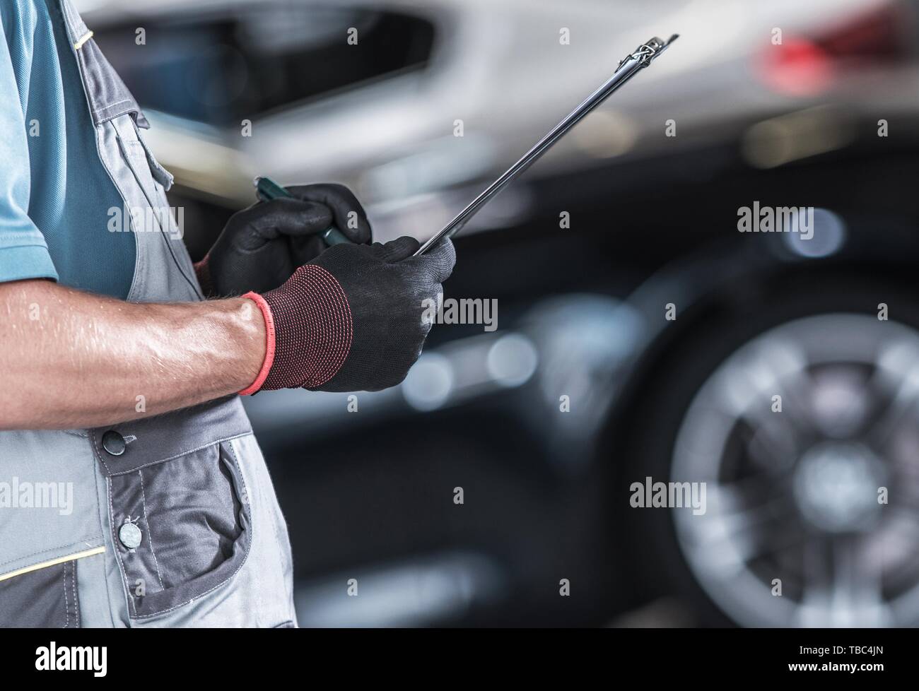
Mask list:
MULTIPOLYGON (((172 176, 138 129, 149 125, 60 2, 101 164, 133 210, 128 300, 201 300, 165 212, 172 176)), ((287 527, 237 396, 98 429, 0 432, 0 481, 15 504, 0 507, 0 626, 295 625, 287 527)))

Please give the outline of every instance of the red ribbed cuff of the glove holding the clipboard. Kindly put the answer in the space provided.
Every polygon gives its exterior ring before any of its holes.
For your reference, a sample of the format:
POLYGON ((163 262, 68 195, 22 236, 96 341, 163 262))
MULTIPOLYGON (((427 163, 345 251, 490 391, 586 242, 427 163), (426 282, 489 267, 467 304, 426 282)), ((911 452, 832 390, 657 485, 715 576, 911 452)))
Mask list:
POLYGON ((351 308, 335 277, 307 264, 280 288, 253 295, 244 297, 255 300, 265 315, 269 355, 259 378, 241 393, 312 389, 335 377, 354 338, 351 308))

